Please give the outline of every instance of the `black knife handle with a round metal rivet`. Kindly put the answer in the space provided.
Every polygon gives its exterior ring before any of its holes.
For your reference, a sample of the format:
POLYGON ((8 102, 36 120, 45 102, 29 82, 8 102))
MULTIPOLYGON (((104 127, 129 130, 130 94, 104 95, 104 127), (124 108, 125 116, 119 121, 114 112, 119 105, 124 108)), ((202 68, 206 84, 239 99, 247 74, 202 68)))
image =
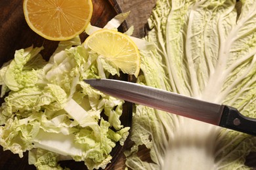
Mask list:
POLYGON ((256 135, 256 119, 244 116, 234 107, 226 105, 224 105, 219 126, 241 131, 249 135, 256 135))

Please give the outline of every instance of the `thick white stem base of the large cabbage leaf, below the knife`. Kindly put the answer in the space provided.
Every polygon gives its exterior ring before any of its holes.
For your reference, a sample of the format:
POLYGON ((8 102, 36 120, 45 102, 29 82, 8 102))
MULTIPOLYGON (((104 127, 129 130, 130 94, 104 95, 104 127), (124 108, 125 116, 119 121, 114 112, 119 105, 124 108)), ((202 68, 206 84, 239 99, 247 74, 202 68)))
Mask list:
POLYGON ((161 169, 216 169, 215 139, 219 127, 181 119, 181 125, 174 132, 175 138, 169 140, 161 169))

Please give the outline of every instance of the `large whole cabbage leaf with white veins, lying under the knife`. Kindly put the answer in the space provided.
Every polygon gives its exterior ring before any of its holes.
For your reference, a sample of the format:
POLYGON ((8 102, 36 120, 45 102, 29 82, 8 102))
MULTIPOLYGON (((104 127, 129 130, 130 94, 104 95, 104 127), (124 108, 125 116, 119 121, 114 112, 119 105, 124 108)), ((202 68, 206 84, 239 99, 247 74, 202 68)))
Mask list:
MULTIPOLYGON (((236 107, 256 118, 256 2, 158 0, 138 83, 236 107)), ((250 169, 251 135, 137 105, 131 169, 250 169), (141 146, 150 161, 140 158, 141 146)))

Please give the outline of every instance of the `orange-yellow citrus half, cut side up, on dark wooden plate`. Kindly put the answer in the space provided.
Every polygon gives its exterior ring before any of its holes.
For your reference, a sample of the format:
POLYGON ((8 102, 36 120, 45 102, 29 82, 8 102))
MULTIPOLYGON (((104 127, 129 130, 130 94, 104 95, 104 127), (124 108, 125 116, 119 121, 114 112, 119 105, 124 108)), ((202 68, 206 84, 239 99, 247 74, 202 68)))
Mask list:
POLYGON ((26 22, 45 39, 63 41, 82 33, 91 20, 91 0, 24 0, 26 22))

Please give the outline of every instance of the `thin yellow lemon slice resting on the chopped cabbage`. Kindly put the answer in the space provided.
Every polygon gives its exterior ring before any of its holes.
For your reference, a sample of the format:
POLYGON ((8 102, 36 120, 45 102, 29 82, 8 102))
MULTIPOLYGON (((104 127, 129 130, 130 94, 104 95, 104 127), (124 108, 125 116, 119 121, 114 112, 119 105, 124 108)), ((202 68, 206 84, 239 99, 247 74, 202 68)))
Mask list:
POLYGON ((85 44, 106 61, 116 65, 123 73, 139 75, 139 50, 127 35, 110 29, 100 29, 90 35, 85 44))

